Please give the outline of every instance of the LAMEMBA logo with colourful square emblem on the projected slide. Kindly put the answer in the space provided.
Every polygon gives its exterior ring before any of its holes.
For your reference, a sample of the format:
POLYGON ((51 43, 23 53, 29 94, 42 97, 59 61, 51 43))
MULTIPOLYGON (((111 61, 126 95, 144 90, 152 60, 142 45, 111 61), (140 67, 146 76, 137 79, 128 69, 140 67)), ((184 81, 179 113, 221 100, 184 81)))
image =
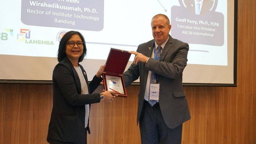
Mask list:
POLYGON ((23 41, 26 44, 44 44, 44 45, 54 45, 52 41, 48 40, 31 40, 30 39, 30 29, 20 29, 20 34, 17 34, 17 40, 23 41))

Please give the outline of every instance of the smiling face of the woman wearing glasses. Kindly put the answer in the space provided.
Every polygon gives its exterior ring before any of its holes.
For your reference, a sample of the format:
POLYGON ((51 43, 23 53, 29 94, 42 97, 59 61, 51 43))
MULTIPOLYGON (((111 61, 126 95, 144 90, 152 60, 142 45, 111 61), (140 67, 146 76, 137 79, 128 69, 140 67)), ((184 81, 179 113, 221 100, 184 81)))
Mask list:
POLYGON ((66 44, 66 55, 68 59, 78 62, 79 57, 83 54, 83 50, 84 46, 80 36, 78 34, 71 36, 66 44))

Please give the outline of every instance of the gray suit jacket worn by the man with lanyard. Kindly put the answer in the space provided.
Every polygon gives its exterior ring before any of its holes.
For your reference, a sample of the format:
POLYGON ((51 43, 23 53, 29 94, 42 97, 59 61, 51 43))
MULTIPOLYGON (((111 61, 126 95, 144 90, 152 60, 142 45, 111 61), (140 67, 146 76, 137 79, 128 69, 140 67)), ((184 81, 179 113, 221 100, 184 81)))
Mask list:
POLYGON ((137 52, 149 57, 148 62, 138 62, 137 65, 132 63, 123 74, 124 82, 127 87, 140 77, 137 113, 137 122, 139 122, 148 71, 156 73, 156 82, 160 83, 159 105, 162 116, 169 128, 175 128, 191 118, 182 88, 182 72, 187 65, 189 47, 187 43, 176 40, 169 35, 169 39, 162 50, 160 61, 151 58, 153 49, 154 40, 138 46, 137 52))

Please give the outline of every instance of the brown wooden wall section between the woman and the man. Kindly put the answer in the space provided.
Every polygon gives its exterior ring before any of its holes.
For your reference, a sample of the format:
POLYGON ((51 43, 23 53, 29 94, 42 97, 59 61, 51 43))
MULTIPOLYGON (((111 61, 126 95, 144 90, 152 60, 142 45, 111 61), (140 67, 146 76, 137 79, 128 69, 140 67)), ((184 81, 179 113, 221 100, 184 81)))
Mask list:
POLYGON ((91 105, 89 144, 140 143, 137 126, 139 86, 130 86, 127 90, 127 98, 116 97, 112 103, 91 105))

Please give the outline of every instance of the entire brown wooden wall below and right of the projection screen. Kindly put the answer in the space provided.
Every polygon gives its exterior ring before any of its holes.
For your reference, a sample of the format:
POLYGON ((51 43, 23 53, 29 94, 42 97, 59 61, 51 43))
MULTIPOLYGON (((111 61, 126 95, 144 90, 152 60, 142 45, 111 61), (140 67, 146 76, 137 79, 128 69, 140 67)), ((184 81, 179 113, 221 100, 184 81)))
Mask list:
MULTIPOLYGON (((192 119, 182 144, 256 144, 256 1, 238 1, 237 87, 186 86, 192 119)), ((93 104, 89 144, 140 144, 139 86, 93 104)), ((46 144, 52 85, 0 84, 0 144, 46 144)))

